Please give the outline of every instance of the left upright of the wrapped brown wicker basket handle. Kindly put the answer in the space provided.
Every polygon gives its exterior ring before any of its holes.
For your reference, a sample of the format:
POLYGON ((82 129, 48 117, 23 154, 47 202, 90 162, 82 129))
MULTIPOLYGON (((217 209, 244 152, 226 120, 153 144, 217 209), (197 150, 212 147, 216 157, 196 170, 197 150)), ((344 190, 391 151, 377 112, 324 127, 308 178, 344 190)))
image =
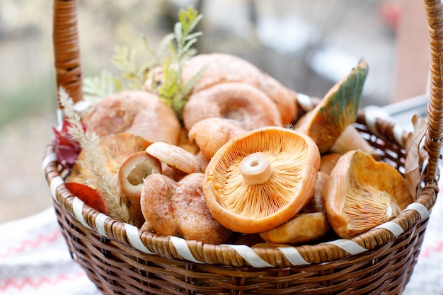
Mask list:
POLYGON ((74 103, 83 100, 77 4, 78 0, 54 0, 52 21, 57 90, 64 87, 74 103))

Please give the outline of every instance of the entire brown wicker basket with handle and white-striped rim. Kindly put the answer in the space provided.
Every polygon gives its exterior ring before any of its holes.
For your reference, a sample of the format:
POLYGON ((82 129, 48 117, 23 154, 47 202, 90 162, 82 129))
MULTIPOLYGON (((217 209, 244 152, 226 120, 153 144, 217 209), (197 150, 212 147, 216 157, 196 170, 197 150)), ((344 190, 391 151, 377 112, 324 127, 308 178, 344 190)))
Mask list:
MULTIPOLYGON (((76 1, 54 0, 57 87, 82 99, 76 1)), ((417 199, 392 221, 347 240, 288 248, 207 245, 159 236, 86 206, 64 185, 47 146, 43 167, 72 258, 103 294, 401 294, 420 253, 437 197, 442 138, 440 0, 425 0, 431 45, 431 91, 425 147, 430 158, 417 199)), ((405 132, 364 112, 355 125, 384 161, 404 172, 405 132)))

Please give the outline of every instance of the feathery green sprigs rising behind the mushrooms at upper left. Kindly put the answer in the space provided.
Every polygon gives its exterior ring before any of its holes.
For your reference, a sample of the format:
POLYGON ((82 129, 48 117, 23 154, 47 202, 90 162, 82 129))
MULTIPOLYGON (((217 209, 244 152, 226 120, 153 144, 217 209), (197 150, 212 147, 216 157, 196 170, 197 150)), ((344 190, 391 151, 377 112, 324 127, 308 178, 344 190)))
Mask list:
POLYGON ((103 71, 100 76, 84 81, 85 97, 91 102, 96 102, 115 91, 123 89, 144 89, 149 72, 160 66, 163 78, 158 85, 154 85, 151 91, 156 91, 167 105, 182 120, 183 108, 193 86, 201 78, 205 69, 192 76, 187 83, 183 83, 182 69, 190 57, 197 54, 195 43, 202 32, 194 32, 203 16, 192 6, 178 13, 178 22, 174 25, 173 33, 167 34, 159 47, 154 50, 146 38, 143 39, 150 59, 147 62, 137 62, 136 50, 117 45, 111 62, 121 71, 120 76, 113 76, 103 71))

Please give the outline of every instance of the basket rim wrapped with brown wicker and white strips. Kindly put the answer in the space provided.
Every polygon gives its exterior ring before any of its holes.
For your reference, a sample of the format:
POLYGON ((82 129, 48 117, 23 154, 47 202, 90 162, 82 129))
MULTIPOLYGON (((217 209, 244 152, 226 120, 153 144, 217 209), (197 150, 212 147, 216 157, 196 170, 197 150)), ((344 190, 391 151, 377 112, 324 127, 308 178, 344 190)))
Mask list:
MULTIPOLYGON (((386 121, 371 112, 360 111, 357 124, 367 127, 369 134, 386 138, 403 146, 407 132, 399 125, 386 121), (368 124, 369 123, 369 124, 368 124), (401 136, 399 134, 402 134, 401 136), (398 142, 401 141, 401 142, 398 142)), ((419 221, 424 221, 437 199, 438 185, 426 183, 416 201, 410 204, 396 218, 376 226, 365 233, 348 239, 337 239, 318 244, 294 245, 279 248, 251 248, 248 245, 204 244, 200 241, 186 241, 176 236, 162 236, 138 229, 131 224, 117 221, 84 204, 64 185, 59 170, 54 144, 47 146, 42 161, 47 183, 54 202, 71 216, 75 216, 86 228, 100 236, 114 239, 138 250, 141 255, 159 255, 165 258, 187 260, 194 263, 226 265, 231 267, 293 267, 331 262, 350 255, 362 255, 400 237, 419 221)))

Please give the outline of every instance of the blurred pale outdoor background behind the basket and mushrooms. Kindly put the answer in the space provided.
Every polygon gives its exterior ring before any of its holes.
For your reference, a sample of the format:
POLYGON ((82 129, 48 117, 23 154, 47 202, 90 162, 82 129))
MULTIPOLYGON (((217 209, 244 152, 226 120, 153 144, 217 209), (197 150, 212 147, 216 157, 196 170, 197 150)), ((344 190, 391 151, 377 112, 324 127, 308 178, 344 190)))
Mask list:
MULTIPOLYGON (((142 48, 142 37, 158 44, 189 5, 204 15, 199 53, 236 54, 285 86, 318 97, 364 59, 369 76, 362 108, 408 105, 423 112, 429 62, 421 1, 80 0, 84 76, 117 71, 110 62, 115 45, 142 48)), ((0 1, 0 62, 3 223, 52 204, 41 168, 57 126, 52 1, 0 1)))

